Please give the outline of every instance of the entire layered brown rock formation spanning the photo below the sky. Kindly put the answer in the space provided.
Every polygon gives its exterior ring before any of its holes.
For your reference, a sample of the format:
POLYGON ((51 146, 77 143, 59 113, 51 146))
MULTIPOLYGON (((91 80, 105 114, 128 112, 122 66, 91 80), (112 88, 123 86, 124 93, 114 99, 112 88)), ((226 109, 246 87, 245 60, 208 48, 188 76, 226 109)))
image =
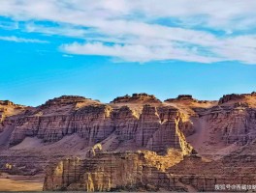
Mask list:
POLYGON ((60 96, 38 107, 0 100, 1 172, 45 174, 46 191, 256 187, 255 139, 255 93, 134 94, 107 104, 60 96))

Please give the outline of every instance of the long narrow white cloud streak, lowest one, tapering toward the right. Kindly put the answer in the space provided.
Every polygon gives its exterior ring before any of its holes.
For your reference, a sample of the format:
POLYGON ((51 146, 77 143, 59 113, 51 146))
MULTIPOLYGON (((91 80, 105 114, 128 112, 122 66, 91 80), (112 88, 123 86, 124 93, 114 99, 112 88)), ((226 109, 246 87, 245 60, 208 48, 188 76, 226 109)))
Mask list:
POLYGON ((106 45, 102 42, 92 42, 80 44, 78 42, 72 44, 64 44, 62 50, 70 54, 84 55, 101 55, 111 56, 130 62, 149 62, 164 60, 181 60, 189 62, 211 63, 218 62, 217 58, 204 57, 193 52, 195 50, 185 50, 175 48, 172 45, 151 45, 144 46, 142 44, 113 44, 106 45))

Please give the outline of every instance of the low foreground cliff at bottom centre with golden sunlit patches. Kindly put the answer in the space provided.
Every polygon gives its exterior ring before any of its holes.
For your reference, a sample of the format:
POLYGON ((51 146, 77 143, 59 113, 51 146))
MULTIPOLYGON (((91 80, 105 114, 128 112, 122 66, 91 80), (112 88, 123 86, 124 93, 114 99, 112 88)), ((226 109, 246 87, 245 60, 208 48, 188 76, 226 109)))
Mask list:
POLYGON ((157 191, 163 188, 185 191, 184 186, 164 172, 165 167, 175 162, 175 159, 170 162, 170 158, 182 157, 178 152, 176 156, 173 153, 161 157, 161 162, 169 163, 162 168, 159 155, 153 152, 99 153, 91 159, 66 159, 48 170, 44 190, 157 191))

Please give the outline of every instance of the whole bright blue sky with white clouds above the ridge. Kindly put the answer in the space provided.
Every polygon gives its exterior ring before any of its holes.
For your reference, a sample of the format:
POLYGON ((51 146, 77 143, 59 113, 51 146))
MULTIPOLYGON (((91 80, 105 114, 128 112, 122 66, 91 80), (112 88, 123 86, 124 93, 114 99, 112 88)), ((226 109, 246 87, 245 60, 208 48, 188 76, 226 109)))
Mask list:
POLYGON ((2 0, 0 99, 217 99, 256 83, 251 0, 2 0))

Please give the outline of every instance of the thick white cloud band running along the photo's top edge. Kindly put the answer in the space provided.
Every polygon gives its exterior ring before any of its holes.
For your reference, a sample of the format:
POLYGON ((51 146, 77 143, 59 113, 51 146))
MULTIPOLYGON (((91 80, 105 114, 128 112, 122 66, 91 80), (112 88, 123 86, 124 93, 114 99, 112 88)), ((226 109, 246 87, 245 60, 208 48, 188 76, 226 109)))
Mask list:
POLYGON ((90 21, 127 15, 132 19, 134 14, 144 19, 176 17, 185 21, 203 16, 200 24, 243 29, 256 23, 255 9, 256 2, 251 0, 2 0, 0 13, 16 19, 48 19, 86 25, 93 25, 90 21))

